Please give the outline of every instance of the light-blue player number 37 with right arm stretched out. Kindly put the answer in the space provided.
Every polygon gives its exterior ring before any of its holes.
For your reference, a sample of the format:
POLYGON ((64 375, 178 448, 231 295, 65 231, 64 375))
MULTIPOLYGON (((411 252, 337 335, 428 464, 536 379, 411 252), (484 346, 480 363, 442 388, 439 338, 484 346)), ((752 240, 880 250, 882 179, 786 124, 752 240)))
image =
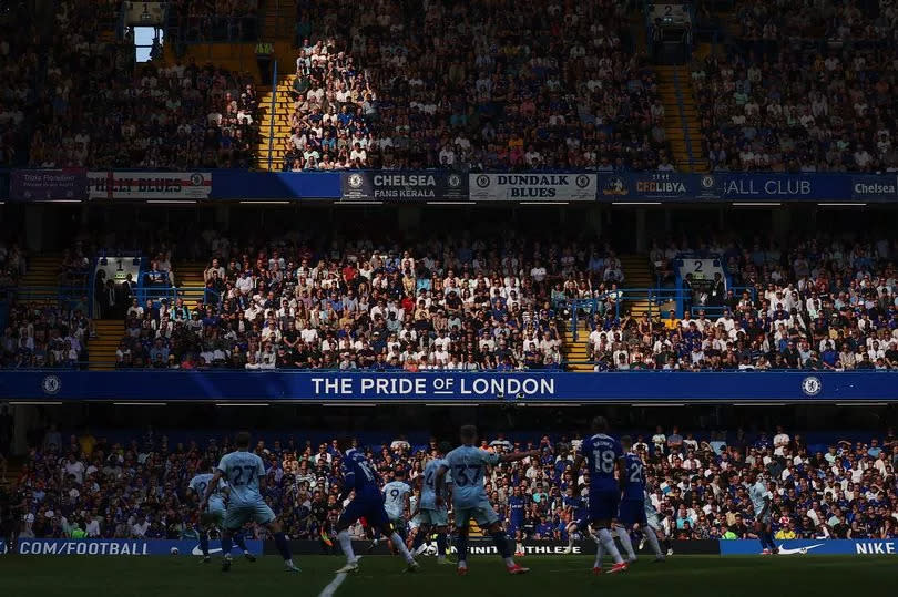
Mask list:
POLYGON ((468 525, 473 518, 477 524, 489 532, 499 554, 506 562, 511 574, 524 574, 529 568, 519 566, 511 557, 508 535, 499 522, 499 516, 492 509, 487 492, 483 490, 483 472, 487 466, 496 466, 500 462, 514 462, 527 457, 538 457, 539 450, 530 452, 516 452, 512 454, 496 454, 487 452, 477 444, 477 428, 465 425, 461 428, 461 446, 446 455, 446 463, 437 470, 436 503, 441 506, 446 500, 446 475, 452 473, 452 508, 456 515, 458 538, 458 574, 468 574, 468 525))

